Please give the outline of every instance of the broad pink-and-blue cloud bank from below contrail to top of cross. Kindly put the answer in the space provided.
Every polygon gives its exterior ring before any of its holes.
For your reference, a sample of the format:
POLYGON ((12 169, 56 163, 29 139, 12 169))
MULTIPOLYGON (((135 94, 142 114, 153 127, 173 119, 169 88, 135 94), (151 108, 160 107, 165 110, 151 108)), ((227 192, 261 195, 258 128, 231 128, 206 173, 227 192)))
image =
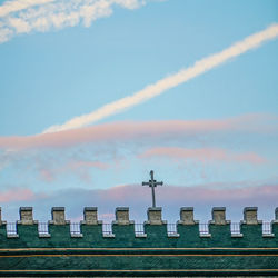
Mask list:
POLYGON ((113 122, 0 137, 0 183, 19 187, 24 180, 40 191, 106 188, 117 182, 110 177, 128 182, 127 172, 136 176, 152 167, 175 173, 177 185, 185 179, 191 185, 267 179, 277 169, 276 122, 275 116, 247 115, 221 120, 113 122))

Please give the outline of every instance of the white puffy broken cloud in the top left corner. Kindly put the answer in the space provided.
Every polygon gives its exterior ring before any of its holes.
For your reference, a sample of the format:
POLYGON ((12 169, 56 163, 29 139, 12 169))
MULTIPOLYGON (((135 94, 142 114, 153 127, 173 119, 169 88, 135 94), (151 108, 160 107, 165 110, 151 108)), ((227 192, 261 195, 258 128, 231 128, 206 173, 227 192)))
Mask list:
POLYGON ((16 0, 0 6, 0 43, 12 37, 33 31, 73 27, 109 17, 116 6, 137 9, 143 0, 16 0))

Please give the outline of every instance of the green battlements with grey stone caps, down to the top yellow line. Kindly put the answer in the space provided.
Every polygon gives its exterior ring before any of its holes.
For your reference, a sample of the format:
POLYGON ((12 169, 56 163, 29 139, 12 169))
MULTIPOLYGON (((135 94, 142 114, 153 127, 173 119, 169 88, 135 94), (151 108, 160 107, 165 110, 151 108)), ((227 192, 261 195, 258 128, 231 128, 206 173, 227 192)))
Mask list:
MULTIPOLYGON (((47 247, 95 247, 95 248, 215 248, 215 247, 277 247, 278 246, 278 208, 267 234, 262 231, 262 221, 257 219, 257 207, 244 209, 244 220, 238 231, 231 232, 231 222, 226 220, 226 208, 215 207, 207 232, 200 232, 199 221, 195 220, 193 208, 180 208, 180 220, 175 232, 167 230, 167 221, 162 220, 161 208, 149 208, 148 220, 136 230, 135 221, 129 219, 129 208, 116 208, 116 220, 111 224, 111 232, 103 234, 103 224, 98 220, 96 207, 83 209, 80 231, 72 232, 70 221, 66 220, 64 208, 53 207, 52 219, 48 221, 43 232, 39 232, 39 222, 33 220, 32 208, 19 209, 20 220, 16 230, 9 234, 7 222, 1 220, 0 210, 0 248, 47 248, 47 247)), ((41 226, 40 226, 41 227, 41 226)))

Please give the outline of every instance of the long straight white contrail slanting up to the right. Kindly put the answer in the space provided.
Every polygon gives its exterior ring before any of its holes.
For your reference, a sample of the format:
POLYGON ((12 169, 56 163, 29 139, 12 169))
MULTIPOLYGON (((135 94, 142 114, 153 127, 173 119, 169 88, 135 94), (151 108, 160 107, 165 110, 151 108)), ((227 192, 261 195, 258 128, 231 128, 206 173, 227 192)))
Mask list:
POLYGON ((148 99, 161 95, 170 88, 187 82, 188 80, 198 77, 201 73, 216 68, 217 66, 220 66, 221 63, 230 60, 234 57, 240 56, 248 50, 259 47, 262 42, 275 39, 276 37, 278 37, 278 23, 275 23, 264 31, 251 34, 244 40, 234 43, 231 47, 222 50, 221 52, 215 53, 197 61, 192 67, 182 69, 172 76, 160 79, 156 83, 149 85, 131 96, 127 96, 108 105, 105 105, 90 113, 75 117, 63 125, 51 126, 50 128, 46 129, 43 133, 85 127, 108 116, 118 113, 127 108, 137 106, 148 99))

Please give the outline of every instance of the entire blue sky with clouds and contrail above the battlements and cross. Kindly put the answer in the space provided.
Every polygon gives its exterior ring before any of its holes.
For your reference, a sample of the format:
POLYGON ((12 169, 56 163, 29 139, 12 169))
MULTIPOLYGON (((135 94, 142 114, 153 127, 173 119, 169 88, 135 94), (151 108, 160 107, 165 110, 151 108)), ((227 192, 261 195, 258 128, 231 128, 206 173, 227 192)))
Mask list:
POLYGON ((180 207, 278 207, 278 1, 0 1, 0 206, 71 221, 129 207, 155 178, 180 207))

